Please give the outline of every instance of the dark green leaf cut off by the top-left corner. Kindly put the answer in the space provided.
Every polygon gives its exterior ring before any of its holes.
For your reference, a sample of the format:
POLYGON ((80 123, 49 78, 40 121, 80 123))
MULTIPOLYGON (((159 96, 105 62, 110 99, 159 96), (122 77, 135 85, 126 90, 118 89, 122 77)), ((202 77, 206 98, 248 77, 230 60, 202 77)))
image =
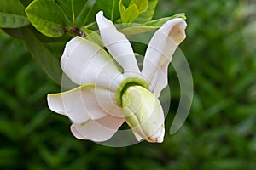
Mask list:
POLYGON ((25 8, 19 0, 1 0, 0 27, 19 28, 29 25, 24 10, 25 8))

